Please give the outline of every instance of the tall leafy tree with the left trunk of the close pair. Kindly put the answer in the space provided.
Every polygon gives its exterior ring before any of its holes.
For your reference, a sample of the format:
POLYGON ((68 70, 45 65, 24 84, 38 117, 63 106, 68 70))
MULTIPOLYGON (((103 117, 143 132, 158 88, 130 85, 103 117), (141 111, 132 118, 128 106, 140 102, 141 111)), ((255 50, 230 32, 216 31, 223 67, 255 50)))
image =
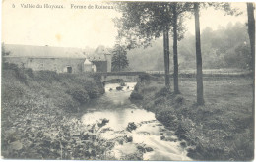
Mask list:
POLYGON ((163 2, 120 2, 117 9, 122 13, 122 17, 116 20, 119 38, 125 38, 128 49, 138 46, 147 47, 153 39, 163 35, 165 86, 170 88, 168 32, 171 13, 169 5, 163 2))

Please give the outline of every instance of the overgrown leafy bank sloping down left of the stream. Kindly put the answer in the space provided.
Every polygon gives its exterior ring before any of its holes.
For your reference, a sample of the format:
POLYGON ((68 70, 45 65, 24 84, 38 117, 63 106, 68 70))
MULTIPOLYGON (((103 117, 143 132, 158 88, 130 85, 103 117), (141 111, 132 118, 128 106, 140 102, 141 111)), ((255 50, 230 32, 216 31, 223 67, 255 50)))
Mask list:
POLYGON ((57 74, 3 64, 1 153, 7 159, 103 159, 109 146, 72 118, 104 93, 93 74, 57 74))

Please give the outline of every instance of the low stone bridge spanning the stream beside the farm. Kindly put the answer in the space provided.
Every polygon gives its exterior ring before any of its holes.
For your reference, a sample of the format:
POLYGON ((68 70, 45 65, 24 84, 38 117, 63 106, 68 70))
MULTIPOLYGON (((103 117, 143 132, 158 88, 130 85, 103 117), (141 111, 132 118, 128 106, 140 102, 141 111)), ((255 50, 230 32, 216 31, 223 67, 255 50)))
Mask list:
POLYGON ((139 75, 146 74, 145 72, 107 72, 97 73, 101 76, 101 82, 122 80, 122 81, 139 81, 139 75))

